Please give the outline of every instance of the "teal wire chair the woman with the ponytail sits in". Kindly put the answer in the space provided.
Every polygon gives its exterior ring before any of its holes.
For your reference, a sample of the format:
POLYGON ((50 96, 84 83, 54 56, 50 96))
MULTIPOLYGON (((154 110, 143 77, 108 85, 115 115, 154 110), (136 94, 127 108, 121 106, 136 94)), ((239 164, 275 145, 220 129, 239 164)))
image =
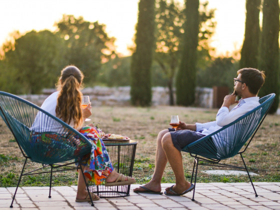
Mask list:
MULTIPOLYGON (((77 130, 16 95, 0 91, 0 116, 25 157, 10 207, 23 175, 50 173, 50 198, 52 173, 81 169, 79 161, 91 151, 90 141, 77 130), (41 163, 42 167, 23 173, 27 159, 41 163)), ((85 181, 84 175, 83 178, 85 181)), ((89 194, 87 184, 86 189, 89 194)), ((94 206, 92 200, 91 205, 94 206)))

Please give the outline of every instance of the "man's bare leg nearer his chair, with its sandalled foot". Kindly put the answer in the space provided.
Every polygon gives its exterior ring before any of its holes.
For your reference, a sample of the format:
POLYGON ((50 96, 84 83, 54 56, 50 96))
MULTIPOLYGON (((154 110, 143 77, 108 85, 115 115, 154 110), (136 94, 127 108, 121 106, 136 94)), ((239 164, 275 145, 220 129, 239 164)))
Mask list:
MULTIPOLYGON (((175 174, 176 184, 172 187, 172 190, 176 193, 182 193, 190 187, 190 183, 186 181, 184 177, 181 152, 173 145, 171 134, 169 132, 164 134, 161 144, 167 160, 175 174)), ((172 194, 168 189, 169 187, 166 188, 167 193, 172 194)))

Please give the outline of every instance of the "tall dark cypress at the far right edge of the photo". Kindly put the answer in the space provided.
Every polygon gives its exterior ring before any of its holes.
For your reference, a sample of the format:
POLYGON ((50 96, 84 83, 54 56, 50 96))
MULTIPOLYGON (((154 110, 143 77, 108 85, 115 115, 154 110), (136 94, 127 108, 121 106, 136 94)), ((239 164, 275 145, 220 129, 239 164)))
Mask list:
POLYGON ((259 69, 265 71, 266 81, 260 96, 276 94, 270 112, 276 112, 279 103, 279 2, 263 0, 262 33, 260 42, 259 69))

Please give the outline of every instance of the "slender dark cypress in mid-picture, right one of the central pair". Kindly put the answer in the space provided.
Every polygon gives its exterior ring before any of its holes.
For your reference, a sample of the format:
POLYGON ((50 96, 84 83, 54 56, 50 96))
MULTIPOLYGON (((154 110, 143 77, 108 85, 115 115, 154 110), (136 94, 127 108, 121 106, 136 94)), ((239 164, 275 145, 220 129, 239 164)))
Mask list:
POLYGON ((178 105, 194 102, 196 85, 196 47, 199 28, 199 0, 186 0, 186 22, 182 59, 176 75, 176 100, 178 105))

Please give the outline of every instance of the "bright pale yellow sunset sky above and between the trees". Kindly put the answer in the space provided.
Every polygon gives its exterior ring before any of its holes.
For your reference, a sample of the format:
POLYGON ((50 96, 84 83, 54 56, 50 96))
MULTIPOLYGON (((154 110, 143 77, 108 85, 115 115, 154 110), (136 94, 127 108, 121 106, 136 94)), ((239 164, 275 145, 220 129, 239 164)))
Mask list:
MULTIPOLYGON (((177 0, 183 2, 184 0, 177 0)), ((204 0, 200 0, 202 2, 204 0)), ((240 49, 244 35, 245 0, 208 0, 216 8, 217 22, 211 46, 217 54, 240 49)), ((117 51, 128 55, 137 22, 138 0, 0 0, 0 44, 14 30, 54 30, 62 14, 83 16, 87 21, 106 25, 109 36, 116 37, 117 51)))

